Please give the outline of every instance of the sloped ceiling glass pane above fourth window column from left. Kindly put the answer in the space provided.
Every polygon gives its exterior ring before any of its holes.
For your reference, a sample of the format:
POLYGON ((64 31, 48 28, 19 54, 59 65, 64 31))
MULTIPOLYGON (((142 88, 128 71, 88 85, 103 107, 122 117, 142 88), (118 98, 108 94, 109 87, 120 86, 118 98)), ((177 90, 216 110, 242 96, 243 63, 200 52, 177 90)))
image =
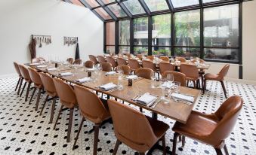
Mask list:
POLYGON ((144 0, 144 2, 146 2, 151 12, 169 9, 165 0, 144 0))

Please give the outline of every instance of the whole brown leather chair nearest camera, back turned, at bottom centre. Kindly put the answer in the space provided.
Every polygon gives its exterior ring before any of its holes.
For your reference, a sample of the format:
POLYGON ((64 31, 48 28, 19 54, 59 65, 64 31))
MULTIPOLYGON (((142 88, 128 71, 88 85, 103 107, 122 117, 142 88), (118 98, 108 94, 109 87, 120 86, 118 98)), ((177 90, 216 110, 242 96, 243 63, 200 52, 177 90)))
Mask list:
POLYGON ((113 154, 116 154, 121 142, 144 154, 160 139, 164 148, 163 154, 166 154, 165 132, 169 128, 166 123, 147 117, 113 99, 108 100, 108 105, 117 138, 113 154))

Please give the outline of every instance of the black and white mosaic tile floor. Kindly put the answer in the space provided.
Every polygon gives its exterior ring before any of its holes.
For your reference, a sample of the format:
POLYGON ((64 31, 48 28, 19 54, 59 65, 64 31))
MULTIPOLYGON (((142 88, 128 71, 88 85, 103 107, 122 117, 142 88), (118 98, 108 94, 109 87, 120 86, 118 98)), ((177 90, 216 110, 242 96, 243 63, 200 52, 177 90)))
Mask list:
MULTIPOLYGON (((24 96, 18 97, 14 92, 17 78, 0 79, 0 154, 92 154, 94 134, 88 134, 93 124, 85 121, 82 134, 79 136, 78 148, 72 150, 72 144, 66 143, 66 123, 68 123, 68 111, 63 111, 61 119, 57 124, 57 131, 53 130, 53 124, 49 124, 50 105, 42 116, 35 111, 35 99, 32 105, 24 102, 24 96)), ((230 154, 256 154, 256 87, 247 84, 236 84, 225 82, 229 96, 239 95, 244 99, 244 106, 236 123, 235 129, 227 138, 227 148, 230 154)), ((224 102, 224 94, 221 84, 208 82, 208 91, 200 96, 199 102, 195 105, 196 111, 212 113, 224 102)), ((36 96, 35 96, 36 97, 36 96)), ((42 95, 45 98, 45 95, 42 95)), ((43 99, 40 105, 42 106, 43 99)), ((60 104, 56 105, 59 109, 60 104)), ((149 111, 145 114, 150 115, 149 111)), ((54 115, 54 120, 57 114, 54 115)), ((173 126, 174 120, 159 116, 159 120, 173 126)), ((79 111, 76 110, 72 126, 72 139, 75 138, 79 128, 79 111)), ((166 144, 168 149, 172 148, 173 132, 168 130, 166 144)), ((98 143, 98 154, 111 154, 115 146, 116 137, 113 133, 113 124, 106 123, 100 129, 98 143)), ((177 154, 215 154, 214 149, 205 144, 187 138, 185 147, 177 145, 177 154)), ((134 154, 134 150, 121 144, 118 154, 134 154)), ((155 151, 154 154, 162 154, 155 151)))

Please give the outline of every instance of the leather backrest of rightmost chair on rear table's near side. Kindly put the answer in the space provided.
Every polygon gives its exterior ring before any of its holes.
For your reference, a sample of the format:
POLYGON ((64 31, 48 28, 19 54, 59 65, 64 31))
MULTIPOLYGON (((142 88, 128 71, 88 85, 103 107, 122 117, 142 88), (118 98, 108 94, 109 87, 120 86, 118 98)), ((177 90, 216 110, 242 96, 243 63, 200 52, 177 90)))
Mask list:
POLYGON ((181 64, 180 72, 186 74, 189 78, 199 78, 199 70, 196 65, 181 64))

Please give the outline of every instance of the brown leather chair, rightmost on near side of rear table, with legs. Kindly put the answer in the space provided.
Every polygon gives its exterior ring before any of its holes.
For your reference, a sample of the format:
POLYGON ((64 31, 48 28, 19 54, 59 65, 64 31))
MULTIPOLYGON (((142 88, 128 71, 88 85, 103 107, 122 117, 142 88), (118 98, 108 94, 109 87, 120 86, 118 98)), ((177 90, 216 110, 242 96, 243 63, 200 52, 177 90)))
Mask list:
POLYGON ((200 87, 200 76, 196 65, 181 64, 180 72, 184 73, 187 77, 187 84, 189 81, 193 81, 194 88, 200 87))

